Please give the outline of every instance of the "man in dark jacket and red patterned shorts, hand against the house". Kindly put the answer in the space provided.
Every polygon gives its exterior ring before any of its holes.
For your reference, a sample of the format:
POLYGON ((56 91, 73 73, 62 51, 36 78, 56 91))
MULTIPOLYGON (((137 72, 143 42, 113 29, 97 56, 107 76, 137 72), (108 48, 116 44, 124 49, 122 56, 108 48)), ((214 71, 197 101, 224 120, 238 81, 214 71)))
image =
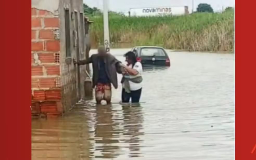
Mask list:
MULTIPOLYGON (((76 63, 74 61, 74 63, 76 63)), ((120 61, 111 54, 106 53, 104 46, 98 48, 98 54, 93 54, 85 60, 77 62, 78 65, 92 63, 93 76, 92 87, 95 86, 95 99, 100 104, 104 99, 107 104, 111 103, 111 84, 117 89, 117 72, 122 73, 120 61)))

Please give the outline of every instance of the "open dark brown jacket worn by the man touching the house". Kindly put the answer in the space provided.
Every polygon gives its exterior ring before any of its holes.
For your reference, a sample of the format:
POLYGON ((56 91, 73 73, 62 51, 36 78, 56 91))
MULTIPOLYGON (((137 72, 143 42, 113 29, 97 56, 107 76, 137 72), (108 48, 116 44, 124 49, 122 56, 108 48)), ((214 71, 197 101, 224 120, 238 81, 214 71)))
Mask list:
MULTIPOLYGON (((105 69, 106 69, 106 74, 110 80, 110 82, 113 84, 114 88, 117 89, 117 72, 119 74, 122 73, 121 71, 121 66, 120 66, 120 61, 118 61, 114 56, 111 54, 106 54, 104 57, 104 62, 105 62, 105 69)), ((85 65, 88 63, 92 63, 92 69, 93 69, 93 75, 92 75, 92 87, 94 88, 95 85, 97 84, 98 77, 99 77, 99 55, 94 54, 88 59, 85 60, 80 60, 78 61, 78 65, 85 65)))

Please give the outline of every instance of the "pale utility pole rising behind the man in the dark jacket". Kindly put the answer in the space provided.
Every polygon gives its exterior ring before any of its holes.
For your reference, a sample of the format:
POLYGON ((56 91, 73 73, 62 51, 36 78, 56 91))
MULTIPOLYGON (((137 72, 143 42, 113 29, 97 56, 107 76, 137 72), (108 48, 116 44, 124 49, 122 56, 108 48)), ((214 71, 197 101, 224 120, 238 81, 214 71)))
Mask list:
POLYGON ((103 0, 103 25, 104 25, 104 45, 109 50, 109 29, 108 29, 108 0, 103 0))

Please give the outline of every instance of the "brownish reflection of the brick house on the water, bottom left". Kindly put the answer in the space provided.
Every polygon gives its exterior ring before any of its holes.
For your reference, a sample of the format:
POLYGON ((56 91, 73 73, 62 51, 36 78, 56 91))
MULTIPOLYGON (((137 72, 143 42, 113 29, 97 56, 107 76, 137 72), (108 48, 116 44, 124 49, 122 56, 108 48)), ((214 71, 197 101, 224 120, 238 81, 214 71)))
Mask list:
POLYGON ((33 120, 32 159, 88 159, 88 138, 83 116, 33 120))

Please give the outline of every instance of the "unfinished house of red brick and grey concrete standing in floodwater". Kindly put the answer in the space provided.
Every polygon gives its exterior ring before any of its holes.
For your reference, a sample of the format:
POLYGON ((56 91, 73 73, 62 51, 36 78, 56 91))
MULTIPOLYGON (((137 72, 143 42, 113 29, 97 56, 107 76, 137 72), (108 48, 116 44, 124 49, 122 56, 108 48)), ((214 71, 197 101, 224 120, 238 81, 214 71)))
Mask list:
POLYGON ((91 86, 84 85, 90 81, 89 67, 73 63, 73 58, 88 57, 90 23, 82 0, 32 0, 33 115, 62 115, 81 98, 91 96, 91 86))

